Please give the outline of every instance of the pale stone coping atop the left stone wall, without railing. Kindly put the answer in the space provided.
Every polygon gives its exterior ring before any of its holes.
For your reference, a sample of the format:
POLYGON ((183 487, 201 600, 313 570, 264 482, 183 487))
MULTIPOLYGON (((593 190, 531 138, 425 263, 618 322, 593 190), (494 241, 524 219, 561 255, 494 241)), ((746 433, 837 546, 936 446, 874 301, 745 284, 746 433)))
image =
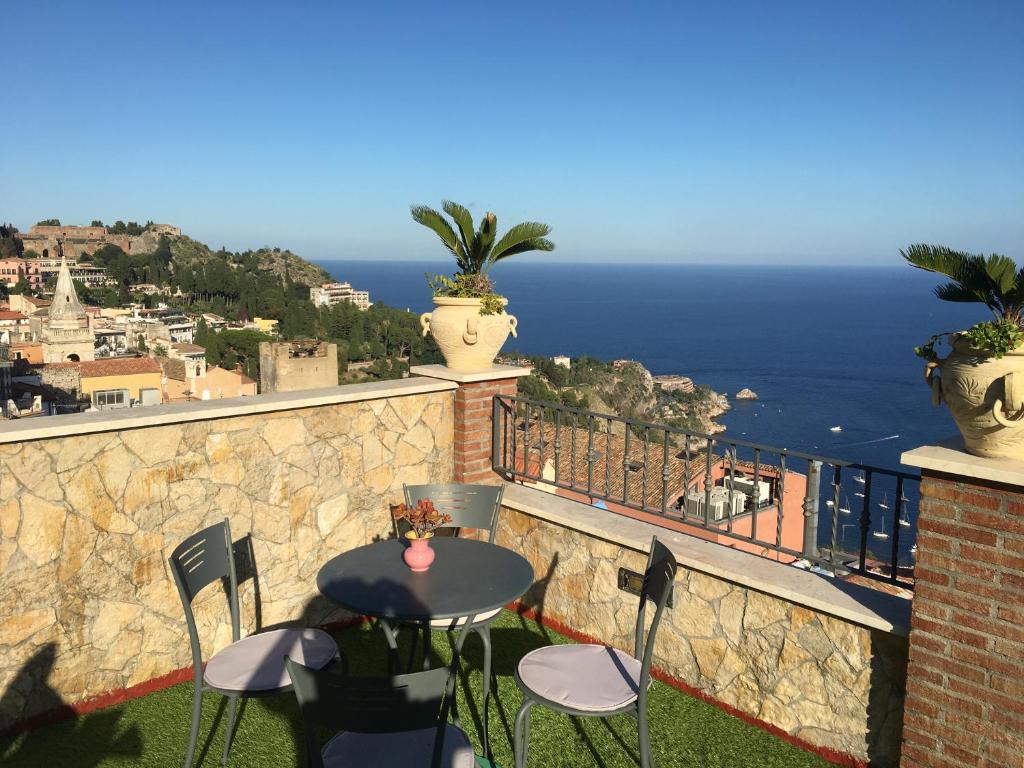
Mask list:
POLYGON ((430 392, 446 392, 458 388, 457 384, 438 379, 398 379, 371 384, 345 384, 324 387, 323 389, 304 389, 297 392, 273 392, 254 397, 193 400, 190 402, 118 411, 15 419, 0 422, 0 443, 39 440, 47 437, 70 437, 95 432, 134 429, 135 427, 184 424, 210 419, 227 419, 233 416, 271 414, 279 411, 295 411, 318 406, 336 406, 342 402, 360 402, 430 392))

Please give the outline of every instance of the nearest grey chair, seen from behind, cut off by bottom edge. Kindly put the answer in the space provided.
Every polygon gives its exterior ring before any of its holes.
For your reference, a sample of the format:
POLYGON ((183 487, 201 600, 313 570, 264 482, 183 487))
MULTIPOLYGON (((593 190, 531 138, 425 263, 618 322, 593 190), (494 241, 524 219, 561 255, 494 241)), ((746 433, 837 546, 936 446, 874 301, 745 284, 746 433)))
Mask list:
POLYGON ((390 678, 287 664, 311 768, 473 768, 469 737, 449 723, 458 656, 452 667, 390 678), (336 735, 321 746, 319 730, 336 735))

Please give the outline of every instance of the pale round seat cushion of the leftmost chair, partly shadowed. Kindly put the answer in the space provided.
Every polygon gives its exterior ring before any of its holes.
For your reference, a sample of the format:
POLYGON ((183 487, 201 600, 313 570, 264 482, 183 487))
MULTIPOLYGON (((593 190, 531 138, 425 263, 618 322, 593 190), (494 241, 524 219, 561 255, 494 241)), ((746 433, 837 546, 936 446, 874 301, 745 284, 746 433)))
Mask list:
POLYGON ((319 670, 337 654, 334 638, 321 630, 272 630, 218 650, 207 663, 203 679, 220 690, 276 690, 292 683, 285 668, 286 655, 319 670))

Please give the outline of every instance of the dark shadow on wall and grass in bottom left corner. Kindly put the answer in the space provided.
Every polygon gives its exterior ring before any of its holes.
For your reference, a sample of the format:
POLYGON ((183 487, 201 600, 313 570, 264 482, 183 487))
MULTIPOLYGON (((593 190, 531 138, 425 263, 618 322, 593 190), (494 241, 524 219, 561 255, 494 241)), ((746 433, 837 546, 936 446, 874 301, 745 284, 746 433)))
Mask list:
MULTIPOLYGON (((56 662, 56 651, 54 643, 47 643, 28 660, 0 696, 0 712, 22 710, 20 706, 15 707, 17 699, 32 696, 36 705, 33 709, 45 714, 29 721, 27 726, 75 717, 72 708, 48 682, 56 662)), ((142 737, 138 729, 135 726, 122 729, 121 717, 120 710, 111 709, 75 721, 74 732, 66 734, 65 738, 94 746, 76 753, 77 768, 94 768, 112 757, 142 756, 142 737)), ((31 756, 46 755, 46 742, 52 738, 53 734, 48 729, 37 727, 0 741, 0 764, 39 765, 37 758, 31 756)))

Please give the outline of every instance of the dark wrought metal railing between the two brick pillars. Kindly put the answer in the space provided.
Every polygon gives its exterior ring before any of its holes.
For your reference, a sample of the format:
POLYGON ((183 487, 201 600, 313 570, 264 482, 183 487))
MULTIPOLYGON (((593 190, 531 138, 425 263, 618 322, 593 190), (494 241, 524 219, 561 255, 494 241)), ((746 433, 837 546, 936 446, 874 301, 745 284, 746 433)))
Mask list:
POLYGON ((505 395, 492 465, 774 559, 912 587, 916 474, 505 395))

